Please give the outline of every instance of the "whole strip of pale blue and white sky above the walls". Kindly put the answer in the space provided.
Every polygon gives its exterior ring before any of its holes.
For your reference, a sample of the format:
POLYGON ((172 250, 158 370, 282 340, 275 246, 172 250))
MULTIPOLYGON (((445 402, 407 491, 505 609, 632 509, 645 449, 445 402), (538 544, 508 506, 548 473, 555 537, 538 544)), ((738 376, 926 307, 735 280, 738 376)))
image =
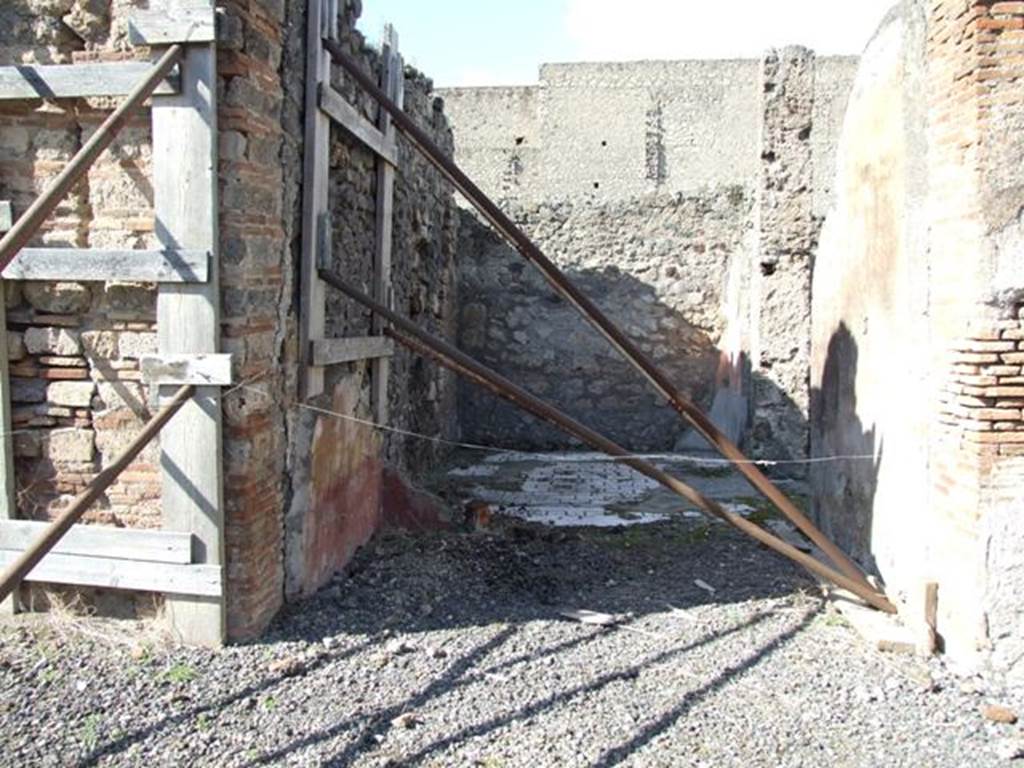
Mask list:
POLYGON ((859 53, 894 0, 364 0, 376 42, 395 25, 406 59, 438 86, 536 82, 554 61, 757 57, 799 43, 859 53))

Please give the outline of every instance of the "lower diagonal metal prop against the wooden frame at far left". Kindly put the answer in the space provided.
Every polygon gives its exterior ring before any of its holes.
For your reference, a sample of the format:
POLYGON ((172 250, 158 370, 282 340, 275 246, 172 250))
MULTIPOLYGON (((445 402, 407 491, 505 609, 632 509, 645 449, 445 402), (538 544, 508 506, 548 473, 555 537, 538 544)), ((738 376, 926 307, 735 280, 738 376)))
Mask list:
POLYGON ((196 387, 191 384, 186 384, 185 386, 178 389, 174 395, 174 399, 168 403, 167 408, 163 409, 159 414, 153 417, 142 431, 138 433, 134 440, 126 447, 114 462, 102 470, 98 475, 93 478, 92 482, 89 483, 89 487, 79 494, 71 505, 60 516, 54 520, 48 528, 43 532, 39 540, 29 547, 22 555, 10 564, 10 566, 3 572, 0 577, 0 601, 4 600, 7 595, 17 589, 17 586, 22 583, 39 561, 46 556, 46 553, 56 546, 56 543, 60 541, 61 537, 67 534, 71 526, 81 519, 82 515, 85 514, 86 510, 92 506, 92 503, 98 499, 103 492, 106 490, 114 481, 118 479, 118 476, 124 472, 124 470, 131 464, 135 457, 137 457, 146 445, 156 437, 160 430, 171 420, 182 406, 184 406, 191 396, 196 393, 196 387))

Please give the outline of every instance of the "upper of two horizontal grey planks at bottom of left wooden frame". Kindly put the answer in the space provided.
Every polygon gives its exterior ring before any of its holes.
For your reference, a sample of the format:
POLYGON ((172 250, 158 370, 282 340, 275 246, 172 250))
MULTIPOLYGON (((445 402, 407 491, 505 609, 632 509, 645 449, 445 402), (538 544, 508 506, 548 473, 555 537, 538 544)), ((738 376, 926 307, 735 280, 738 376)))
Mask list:
MULTIPOLYGON (((48 525, 38 520, 0 521, 0 550, 28 549, 48 525)), ((60 555, 186 565, 191 562, 191 537, 170 530, 73 525, 51 551, 60 555)))

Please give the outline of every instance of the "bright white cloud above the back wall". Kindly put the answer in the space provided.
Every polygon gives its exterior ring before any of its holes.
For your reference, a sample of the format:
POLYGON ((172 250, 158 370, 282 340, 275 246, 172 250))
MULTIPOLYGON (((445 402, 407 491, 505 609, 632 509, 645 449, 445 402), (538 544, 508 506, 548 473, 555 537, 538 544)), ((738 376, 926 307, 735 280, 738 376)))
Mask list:
POLYGON ((799 44, 859 53, 894 0, 568 0, 573 59, 757 57, 799 44))

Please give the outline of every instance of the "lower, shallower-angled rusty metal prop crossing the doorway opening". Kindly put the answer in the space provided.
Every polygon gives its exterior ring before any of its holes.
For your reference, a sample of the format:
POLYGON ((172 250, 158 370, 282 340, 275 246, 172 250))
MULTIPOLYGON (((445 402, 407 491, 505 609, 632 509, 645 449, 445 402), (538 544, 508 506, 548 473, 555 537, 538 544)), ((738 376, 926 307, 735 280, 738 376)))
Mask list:
POLYGON ((822 579, 826 579, 838 587, 849 590, 870 605, 873 605, 876 608, 886 611, 887 613, 896 612, 896 607, 886 598, 885 595, 880 593, 873 587, 865 586, 859 581, 850 579, 844 573, 818 562, 810 555, 801 552, 799 549, 790 544, 786 544, 781 539, 769 534, 767 530, 754 524, 750 520, 746 520, 733 512, 729 512, 718 502, 713 499, 709 499, 698 490, 687 485, 682 480, 658 469, 653 464, 650 464, 643 459, 631 456, 626 449, 622 447, 617 443, 600 433, 595 432, 589 427, 584 426, 574 419, 561 413, 553 406, 535 397, 526 390, 513 384, 511 381, 505 379, 485 366, 480 365, 469 355, 456 349, 451 344, 447 344, 435 336, 428 334, 418 328, 414 323, 411 323, 384 305, 374 301, 368 295, 346 283, 339 275, 322 269, 319 276, 328 285, 338 289, 349 298, 354 299, 362 306, 387 319, 393 328, 385 330, 385 333, 398 343, 412 349, 414 352, 436 360, 441 366, 444 366, 457 374, 466 377, 470 381, 488 389, 499 397, 508 400, 514 406, 527 411, 540 419, 543 419, 558 429, 561 429, 563 432, 567 432, 573 437, 579 438, 588 445, 607 454, 622 464, 632 467, 637 472, 650 477, 652 480, 660 483, 673 493, 681 496, 683 499, 695 504, 707 514, 724 520, 733 527, 738 528, 742 532, 765 545, 769 549, 772 549, 800 565, 803 565, 811 572, 820 575, 822 579))

